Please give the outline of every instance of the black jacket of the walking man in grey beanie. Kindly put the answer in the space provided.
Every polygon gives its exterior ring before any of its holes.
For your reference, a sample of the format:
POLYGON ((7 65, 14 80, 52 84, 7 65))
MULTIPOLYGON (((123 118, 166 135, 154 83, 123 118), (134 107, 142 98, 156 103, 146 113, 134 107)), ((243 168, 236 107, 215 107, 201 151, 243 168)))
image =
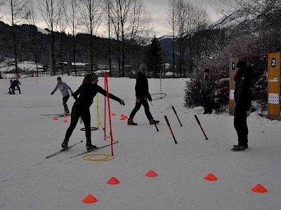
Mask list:
POLYGON ((141 73, 141 71, 138 71, 135 90, 137 99, 144 99, 150 95, 148 90, 148 78, 145 76, 145 74, 141 73))

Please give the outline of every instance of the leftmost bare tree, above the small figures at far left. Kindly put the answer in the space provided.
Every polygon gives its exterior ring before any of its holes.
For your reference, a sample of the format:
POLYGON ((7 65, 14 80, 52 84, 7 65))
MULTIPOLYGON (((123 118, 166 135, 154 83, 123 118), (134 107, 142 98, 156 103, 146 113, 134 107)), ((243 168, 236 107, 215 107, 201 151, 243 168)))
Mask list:
POLYGON ((13 51, 15 56, 15 73, 18 74, 18 50, 20 48, 18 44, 17 27, 20 22, 25 21, 28 18, 29 11, 27 10, 25 0, 4 0, 2 1, 5 6, 10 10, 11 15, 8 18, 12 27, 12 38, 13 38, 13 51))

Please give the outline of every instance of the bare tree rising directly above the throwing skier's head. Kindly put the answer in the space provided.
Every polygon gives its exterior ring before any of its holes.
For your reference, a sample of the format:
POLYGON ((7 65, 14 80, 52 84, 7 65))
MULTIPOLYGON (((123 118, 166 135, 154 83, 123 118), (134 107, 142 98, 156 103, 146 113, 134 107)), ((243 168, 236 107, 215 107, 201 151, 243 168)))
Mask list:
POLYGON ((93 34, 100 26, 103 0, 81 0, 82 22, 86 31, 91 34, 90 56, 91 72, 93 72, 93 34))

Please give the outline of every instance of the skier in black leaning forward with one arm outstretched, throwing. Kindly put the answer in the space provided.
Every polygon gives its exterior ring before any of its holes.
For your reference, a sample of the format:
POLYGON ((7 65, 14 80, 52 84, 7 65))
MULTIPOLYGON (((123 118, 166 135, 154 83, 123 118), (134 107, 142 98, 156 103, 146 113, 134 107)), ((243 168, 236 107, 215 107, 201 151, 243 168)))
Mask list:
MULTIPOLYGON (((70 127, 68 127, 67 132, 65 133, 65 139, 63 140, 63 148, 68 148, 68 141, 70 140, 72 132, 78 123, 79 117, 81 117, 85 125, 87 150, 97 148, 96 146, 91 144, 90 106, 91 104, 93 104, 93 98, 98 92, 107 97, 107 92, 98 85, 98 74, 86 74, 83 80, 83 84, 78 88, 77 91, 72 94, 75 102, 72 106, 70 127)), ((119 99, 115 95, 109 93, 109 97, 110 99, 119 102, 121 105, 125 105, 124 101, 122 99, 119 99)))

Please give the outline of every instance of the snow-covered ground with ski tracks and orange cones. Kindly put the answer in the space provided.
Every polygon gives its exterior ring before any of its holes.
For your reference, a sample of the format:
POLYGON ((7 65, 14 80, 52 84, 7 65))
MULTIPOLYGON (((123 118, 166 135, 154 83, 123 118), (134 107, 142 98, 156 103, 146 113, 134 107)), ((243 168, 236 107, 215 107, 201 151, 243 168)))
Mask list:
MULTIPOLYGON (((72 90, 81 77, 63 76, 72 90)), ((83 160, 85 142, 69 151, 44 159, 60 150, 69 123, 68 118, 53 120, 41 114, 63 113, 59 91, 51 95, 55 77, 20 79, 22 94, 9 95, 9 80, 0 80, 0 209, 280 209, 281 207, 281 122, 251 113, 248 118, 249 149, 231 152, 237 144, 233 116, 202 115, 202 107, 185 109, 183 79, 162 79, 164 99, 153 101, 150 110, 157 125, 149 125, 143 108, 136 114, 137 126, 126 125, 120 115, 129 116, 135 104, 135 80, 108 78, 109 90, 124 99, 125 106, 111 100, 114 159, 83 160), (183 124, 178 123, 173 105, 183 124), (209 140, 205 140, 194 115, 209 140), (174 143, 164 116, 171 124, 178 144, 174 143), (150 170, 156 177, 147 177, 150 170), (204 179, 214 174, 216 181, 204 179), (107 181, 115 177, 117 185, 107 181), (254 193, 261 184, 267 193, 254 193), (98 202, 81 202, 88 195, 98 202)), ((150 93, 160 92, 159 79, 149 79, 150 93)), ((104 87, 104 79, 99 85, 104 87)), ((100 120, 103 122, 103 97, 99 97, 100 120)), ((67 103, 72 107, 74 99, 67 103)), ((91 125, 97 126, 96 100, 91 106, 91 125)), ((108 122, 108 118, 107 118, 108 122)), ((78 124, 70 144, 84 140, 83 125, 78 124)), ((109 127, 107 125, 107 135, 109 127)), ((96 146, 110 143, 103 130, 92 132, 96 146)), ((90 154, 111 154, 110 147, 90 154)), ((104 155, 93 158, 104 158, 104 155)))

